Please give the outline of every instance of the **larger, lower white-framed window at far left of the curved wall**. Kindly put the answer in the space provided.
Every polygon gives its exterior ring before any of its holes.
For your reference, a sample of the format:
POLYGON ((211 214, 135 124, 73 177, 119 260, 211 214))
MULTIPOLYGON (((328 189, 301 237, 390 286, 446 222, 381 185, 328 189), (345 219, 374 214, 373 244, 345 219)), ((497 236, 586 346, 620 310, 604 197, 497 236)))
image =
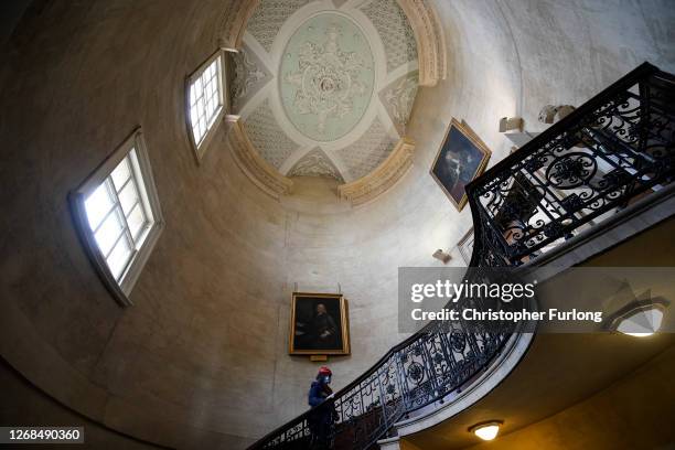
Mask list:
POLYGON ((163 227, 152 172, 137 130, 71 195, 88 254, 121 303, 163 227))

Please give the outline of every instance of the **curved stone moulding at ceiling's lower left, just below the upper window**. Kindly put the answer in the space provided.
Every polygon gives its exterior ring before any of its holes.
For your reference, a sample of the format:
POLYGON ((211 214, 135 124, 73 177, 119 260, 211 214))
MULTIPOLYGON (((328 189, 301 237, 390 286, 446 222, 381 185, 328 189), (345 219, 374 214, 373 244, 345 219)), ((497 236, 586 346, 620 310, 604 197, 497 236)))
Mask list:
POLYGON ((237 165, 262 192, 276 200, 291 192, 293 182, 281 175, 258 154, 238 118, 233 121, 227 139, 237 165))

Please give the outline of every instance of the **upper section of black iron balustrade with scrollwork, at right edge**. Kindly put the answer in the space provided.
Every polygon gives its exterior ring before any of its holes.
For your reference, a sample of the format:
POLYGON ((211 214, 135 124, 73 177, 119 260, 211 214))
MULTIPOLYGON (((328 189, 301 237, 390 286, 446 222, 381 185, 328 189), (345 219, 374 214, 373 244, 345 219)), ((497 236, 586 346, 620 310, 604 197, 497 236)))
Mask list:
POLYGON ((674 86, 645 63, 468 185, 471 265, 533 261, 669 184, 674 86))

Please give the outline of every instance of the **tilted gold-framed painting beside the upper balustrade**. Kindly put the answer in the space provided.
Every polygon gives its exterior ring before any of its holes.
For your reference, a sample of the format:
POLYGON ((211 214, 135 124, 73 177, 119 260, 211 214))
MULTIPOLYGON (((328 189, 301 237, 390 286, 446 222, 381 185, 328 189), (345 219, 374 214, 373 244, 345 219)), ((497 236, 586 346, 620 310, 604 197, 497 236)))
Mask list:
POLYGON ((458 211, 467 204, 464 186, 480 175, 491 151, 464 122, 454 118, 429 173, 458 211))

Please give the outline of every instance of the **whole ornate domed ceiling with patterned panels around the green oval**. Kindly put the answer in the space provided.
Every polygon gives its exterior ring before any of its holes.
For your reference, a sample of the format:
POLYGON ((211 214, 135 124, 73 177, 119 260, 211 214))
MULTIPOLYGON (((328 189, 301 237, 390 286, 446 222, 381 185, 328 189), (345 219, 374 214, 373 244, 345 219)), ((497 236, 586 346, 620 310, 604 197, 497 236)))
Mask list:
POLYGON ((349 183, 404 136, 417 84, 396 0, 261 0, 235 56, 233 113, 281 174, 349 183))

